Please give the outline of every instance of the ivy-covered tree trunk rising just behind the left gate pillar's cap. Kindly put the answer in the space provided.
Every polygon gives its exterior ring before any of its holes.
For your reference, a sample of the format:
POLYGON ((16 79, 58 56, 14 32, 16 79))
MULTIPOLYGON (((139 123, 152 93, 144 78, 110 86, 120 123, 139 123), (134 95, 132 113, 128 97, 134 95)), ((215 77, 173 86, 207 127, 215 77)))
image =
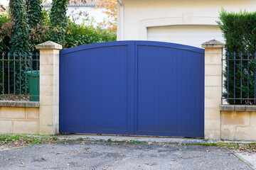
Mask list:
POLYGON ((50 8, 50 40, 64 45, 68 25, 68 0, 53 0, 50 8))

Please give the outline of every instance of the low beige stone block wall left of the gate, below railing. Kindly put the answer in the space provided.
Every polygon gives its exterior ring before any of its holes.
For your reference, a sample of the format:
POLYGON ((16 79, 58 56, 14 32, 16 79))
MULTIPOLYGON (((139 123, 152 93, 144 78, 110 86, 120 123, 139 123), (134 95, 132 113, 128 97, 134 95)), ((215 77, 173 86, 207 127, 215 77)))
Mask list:
POLYGON ((38 132, 38 102, 0 102, 0 134, 36 134, 38 132))

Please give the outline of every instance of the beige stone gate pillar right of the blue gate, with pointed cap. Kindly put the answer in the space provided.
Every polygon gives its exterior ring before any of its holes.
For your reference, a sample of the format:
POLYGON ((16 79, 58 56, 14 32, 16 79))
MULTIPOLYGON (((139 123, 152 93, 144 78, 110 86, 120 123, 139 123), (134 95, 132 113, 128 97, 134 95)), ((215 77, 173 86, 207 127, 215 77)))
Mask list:
POLYGON ((205 139, 220 140, 220 104, 222 98, 222 57, 225 44, 204 42, 205 48, 205 139))

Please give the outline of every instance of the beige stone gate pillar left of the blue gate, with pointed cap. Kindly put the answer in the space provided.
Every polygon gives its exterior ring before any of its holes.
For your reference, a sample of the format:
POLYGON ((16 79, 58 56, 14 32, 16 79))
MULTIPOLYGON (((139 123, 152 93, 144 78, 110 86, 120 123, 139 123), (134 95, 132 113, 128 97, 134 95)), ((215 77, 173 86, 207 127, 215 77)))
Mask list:
POLYGON ((51 41, 36 45, 40 50, 40 109, 41 134, 59 132, 59 53, 62 46, 51 41))

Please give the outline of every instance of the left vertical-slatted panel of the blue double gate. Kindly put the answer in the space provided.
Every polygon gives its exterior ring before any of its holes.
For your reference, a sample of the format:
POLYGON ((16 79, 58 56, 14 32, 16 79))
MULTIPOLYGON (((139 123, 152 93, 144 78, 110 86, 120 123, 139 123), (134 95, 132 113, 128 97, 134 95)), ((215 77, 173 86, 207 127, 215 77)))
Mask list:
POLYGON ((128 134, 127 46, 63 55, 61 132, 128 134))

